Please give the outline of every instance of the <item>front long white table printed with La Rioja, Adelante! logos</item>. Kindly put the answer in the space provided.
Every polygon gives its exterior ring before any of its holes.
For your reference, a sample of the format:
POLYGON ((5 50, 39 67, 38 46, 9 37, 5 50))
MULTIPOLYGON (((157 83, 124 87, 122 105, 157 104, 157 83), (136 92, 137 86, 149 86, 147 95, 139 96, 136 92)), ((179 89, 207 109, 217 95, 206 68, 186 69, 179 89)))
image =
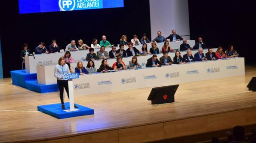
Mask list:
POLYGON ((73 79, 73 91, 89 95, 239 75, 244 75, 244 58, 83 75, 73 79))

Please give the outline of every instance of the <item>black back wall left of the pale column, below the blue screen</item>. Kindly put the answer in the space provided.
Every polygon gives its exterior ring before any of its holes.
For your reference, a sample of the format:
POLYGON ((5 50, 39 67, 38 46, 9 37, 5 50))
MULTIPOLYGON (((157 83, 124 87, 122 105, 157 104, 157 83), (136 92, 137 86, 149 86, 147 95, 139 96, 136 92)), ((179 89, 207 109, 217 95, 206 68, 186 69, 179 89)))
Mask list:
POLYGON ((4 5, 12 6, 0 10, 4 77, 10 77, 10 70, 21 69, 23 43, 34 51, 41 41, 48 48, 52 39, 64 48, 72 39, 90 45, 97 38, 99 43, 102 35, 111 44, 119 44, 124 34, 128 40, 134 34, 151 37, 149 0, 124 0, 124 8, 23 15, 19 15, 18 0, 2 1, 4 5))

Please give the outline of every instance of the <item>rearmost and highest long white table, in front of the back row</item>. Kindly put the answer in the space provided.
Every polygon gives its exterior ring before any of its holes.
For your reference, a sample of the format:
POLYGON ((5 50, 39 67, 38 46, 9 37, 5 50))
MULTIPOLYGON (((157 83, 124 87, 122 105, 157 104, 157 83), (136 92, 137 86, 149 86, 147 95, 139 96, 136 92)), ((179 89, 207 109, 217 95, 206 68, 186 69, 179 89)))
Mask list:
MULTIPOLYGON (((195 40, 187 40, 187 43, 192 47, 195 45, 195 40)), ((182 44, 182 41, 178 42, 170 42, 172 49, 179 49, 179 46, 182 44)), ((142 45, 135 45, 135 47, 140 50, 142 45)), ((148 45, 148 50, 150 49, 151 45, 148 45)), ((161 50, 163 47, 163 43, 157 43, 157 47, 161 50)), ((117 50, 119 47, 117 47, 117 50)), ((125 46, 125 50, 128 49, 128 46, 125 46)), ((95 49, 94 52, 96 53, 100 49, 95 49)), ((110 51, 111 48, 106 48, 106 51, 110 51)), ((89 53, 89 50, 79 50, 71 52, 71 57, 74 58, 76 61, 82 61, 86 59, 86 54, 89 53)), ((37 73, 37 64, 38 63, 52 63, 57 62, 58 59, 64 56, 64 53, 52 53, 52 54, 36 54, 34 56, 25 56, 25 67, 26 73, 37 73)))

